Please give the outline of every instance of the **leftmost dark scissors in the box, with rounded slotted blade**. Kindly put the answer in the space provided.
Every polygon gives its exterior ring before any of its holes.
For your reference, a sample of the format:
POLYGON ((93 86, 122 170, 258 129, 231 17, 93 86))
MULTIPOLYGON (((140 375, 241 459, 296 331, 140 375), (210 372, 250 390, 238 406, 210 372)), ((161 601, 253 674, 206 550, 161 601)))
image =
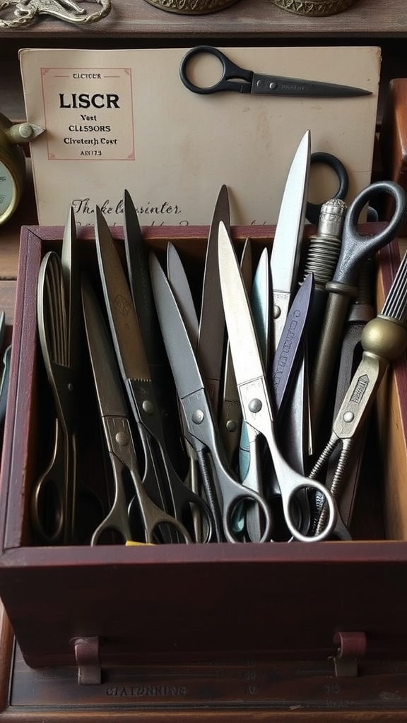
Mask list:
POLYGON ((77 479, 77 403, 80 373, 80 277, 75 216, 68 213, 61 256, 41 261, 37 319, 46 375, 55 406, 51 459, 33 487, 30 500, 35 535, 46 544, 83 542, 99 519, 101 500, 77 479), (83 509, 78 503, 81 502, 83 509), (94 514, 96 510, 96 514, 94 514), (80 521, 85 521, 82 530, 80 521))

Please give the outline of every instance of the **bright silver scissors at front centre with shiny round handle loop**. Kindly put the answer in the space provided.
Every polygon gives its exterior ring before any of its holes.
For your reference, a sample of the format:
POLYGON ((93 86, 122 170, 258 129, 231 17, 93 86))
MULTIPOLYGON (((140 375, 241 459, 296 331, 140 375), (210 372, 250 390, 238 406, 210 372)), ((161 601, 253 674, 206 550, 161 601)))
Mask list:
POLYGON ((272 396, 269 393, 267 375, 261 358, 261 348, 235 249, 222 223, 219 225, 219 276, 225 310, 227 334, 240 395, 243 419, 251 429, 253 442, 261 435, 266 440, 272 457, 274 471, 280 487, 285 524, 294 539, 301 542, 326 539, 335 529, 337 507, 335 500, 324 485, 298 474, 280 453, 274 428, 272 396), (295 499, 304 492, 319 492, 327 505, 324 529, 309 535, 299 529, 295 499))

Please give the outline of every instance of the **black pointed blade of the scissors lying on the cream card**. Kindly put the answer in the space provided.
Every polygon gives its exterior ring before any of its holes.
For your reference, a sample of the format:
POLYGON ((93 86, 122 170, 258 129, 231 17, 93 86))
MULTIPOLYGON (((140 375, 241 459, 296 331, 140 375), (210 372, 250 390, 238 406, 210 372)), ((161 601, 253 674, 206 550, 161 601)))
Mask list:
POLYGON ((286 95, 299 98, 355 98, 372 95, 370 90, 321 80, 303 80, 280 75, 253 73, 251 93, 255 95, 286 95))

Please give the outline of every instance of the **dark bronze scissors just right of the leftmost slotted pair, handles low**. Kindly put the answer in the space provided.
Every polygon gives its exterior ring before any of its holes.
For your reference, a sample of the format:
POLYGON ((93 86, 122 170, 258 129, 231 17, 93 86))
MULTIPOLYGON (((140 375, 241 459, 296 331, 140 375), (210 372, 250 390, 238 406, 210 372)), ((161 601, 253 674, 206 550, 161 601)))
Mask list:
POLYGON ((146 544, 174 537, 182 542, 192 542, 187 529, 157 507, 143 487, 112 340, 96 295, 85 275, 82 279, 82 301, 96 397, 114 481, 112 507, 93 532, 91 544, 103 544, 107 532, 118 533, 121 541, 126 543, 134 542, 139 535, 143 539, 138 542, 146 544), (131 495, 127 495, 125 471, 132 482, 131 495))

